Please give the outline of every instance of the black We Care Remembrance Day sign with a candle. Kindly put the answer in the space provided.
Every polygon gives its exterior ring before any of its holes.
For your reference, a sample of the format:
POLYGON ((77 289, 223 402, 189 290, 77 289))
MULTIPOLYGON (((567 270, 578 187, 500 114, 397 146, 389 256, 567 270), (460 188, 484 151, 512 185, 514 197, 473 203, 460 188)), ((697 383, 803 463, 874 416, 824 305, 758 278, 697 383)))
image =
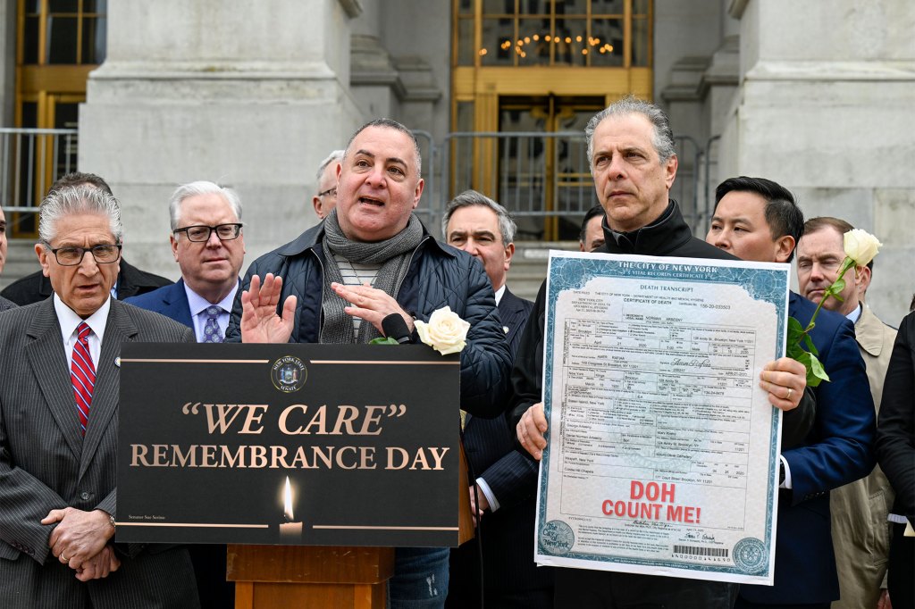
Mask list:
POLYGON ((459 358, 124 344, 118 541, 456 546, 459 358))

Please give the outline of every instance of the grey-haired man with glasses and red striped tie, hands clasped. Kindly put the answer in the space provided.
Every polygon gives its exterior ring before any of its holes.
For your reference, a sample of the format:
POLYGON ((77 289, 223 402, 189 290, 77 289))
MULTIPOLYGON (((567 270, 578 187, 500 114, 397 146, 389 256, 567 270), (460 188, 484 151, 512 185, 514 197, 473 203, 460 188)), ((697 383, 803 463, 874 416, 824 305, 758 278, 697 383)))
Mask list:
POLYGON ((51 192, 39 227, 54 296, 0 315, 0 606, 196 607, 187 550, 113 544, 121 344, 193 336, 111 297, 110 194, 51 192))

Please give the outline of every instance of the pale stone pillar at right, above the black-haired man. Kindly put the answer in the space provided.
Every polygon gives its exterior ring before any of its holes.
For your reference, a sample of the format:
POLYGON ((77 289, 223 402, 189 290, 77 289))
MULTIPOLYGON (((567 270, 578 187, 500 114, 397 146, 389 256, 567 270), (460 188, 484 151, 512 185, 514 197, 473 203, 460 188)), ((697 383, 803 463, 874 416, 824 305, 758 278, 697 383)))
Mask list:
POLYGON ((915 290, 915 4, 735 0, 741 86, 721 175, 791 188, 808 218, 883 241, 867 302, 896 326, 915 290))

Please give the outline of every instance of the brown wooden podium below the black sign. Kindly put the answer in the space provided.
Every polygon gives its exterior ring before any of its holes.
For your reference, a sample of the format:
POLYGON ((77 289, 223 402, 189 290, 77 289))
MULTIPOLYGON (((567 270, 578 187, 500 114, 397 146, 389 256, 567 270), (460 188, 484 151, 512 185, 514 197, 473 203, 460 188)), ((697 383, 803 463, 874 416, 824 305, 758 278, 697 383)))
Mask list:
POLYGON ((230 544, 236 609, 383 609, 393 548, 230 544))

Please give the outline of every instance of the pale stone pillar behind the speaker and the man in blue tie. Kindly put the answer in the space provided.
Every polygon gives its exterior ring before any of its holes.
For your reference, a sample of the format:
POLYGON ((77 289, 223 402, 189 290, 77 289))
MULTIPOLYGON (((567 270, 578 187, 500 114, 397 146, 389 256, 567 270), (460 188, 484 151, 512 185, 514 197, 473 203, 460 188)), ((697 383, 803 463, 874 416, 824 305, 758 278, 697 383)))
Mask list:
POLYGON ((130 262, 178 278, 167 202, 206 179, 241 195, 245 266, 317 219, 318 163, 361 112, 356 0, 111 0, 108 54, 80 112, 80 168, 124 206, 130 262))

